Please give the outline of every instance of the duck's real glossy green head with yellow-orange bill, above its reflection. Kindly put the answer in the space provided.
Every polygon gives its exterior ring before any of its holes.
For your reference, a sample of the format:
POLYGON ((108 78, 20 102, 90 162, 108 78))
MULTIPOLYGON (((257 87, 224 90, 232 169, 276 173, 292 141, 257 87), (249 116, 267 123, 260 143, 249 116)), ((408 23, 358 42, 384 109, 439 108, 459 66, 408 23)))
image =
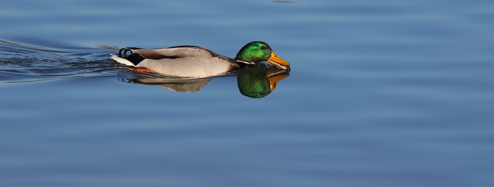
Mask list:
POLYGON ((264 42, 251 42, 242 47, 235 57, 236 61, 255 64, 261 61, 268 61, 269 63, 282 68, 288 69, 290 63, 280 58, 275 52, 264 42))

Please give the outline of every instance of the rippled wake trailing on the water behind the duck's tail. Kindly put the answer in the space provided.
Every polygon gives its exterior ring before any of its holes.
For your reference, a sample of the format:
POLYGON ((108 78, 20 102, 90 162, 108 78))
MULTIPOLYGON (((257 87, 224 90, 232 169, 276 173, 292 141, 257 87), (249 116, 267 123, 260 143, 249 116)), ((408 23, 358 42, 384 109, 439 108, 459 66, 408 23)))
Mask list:
POLYGON ((36 47, 0 41, 0 82, 38 82, 74 77, 161 77, 125 71, 109 58, 112 46, 100 48, 36 47))

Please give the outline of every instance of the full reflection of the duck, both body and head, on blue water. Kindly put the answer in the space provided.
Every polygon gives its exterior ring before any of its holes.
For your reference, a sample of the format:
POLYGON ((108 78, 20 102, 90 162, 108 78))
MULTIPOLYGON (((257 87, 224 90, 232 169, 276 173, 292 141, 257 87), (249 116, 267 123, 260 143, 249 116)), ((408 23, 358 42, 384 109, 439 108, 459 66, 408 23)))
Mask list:
MULTIPOLYGON (((276 89, 278 82, 289 76, 290 69, 270 67, 247 68, 237 73, 237 84, 240 93, 251 98, 265 97, 276 89)), ((215 77, 217 78, 217 77, 215 77)), ((159 86, 174 92, 198 92, 214 78, 178 79, 163 77, 143 77, 135 79, 119 79, 122 82, 159 86)))

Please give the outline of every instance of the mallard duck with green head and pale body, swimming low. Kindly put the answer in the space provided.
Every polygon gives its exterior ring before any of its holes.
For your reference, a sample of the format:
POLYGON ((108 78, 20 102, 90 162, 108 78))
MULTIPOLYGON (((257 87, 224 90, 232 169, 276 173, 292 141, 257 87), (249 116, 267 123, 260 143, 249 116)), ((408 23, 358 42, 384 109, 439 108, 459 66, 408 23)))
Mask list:
POLYGON ((173 77, 209 77, 236 71, 267 61, 281 69, 289 63, 276 55, 264 42, 250 42, 232 59, 198 46, 176 46, 156 49, 122 48, 119 55, 112 54, 117 62, 128 66, 147 68, 173 77), (130 53, 127 55, 127 53, 130 53))

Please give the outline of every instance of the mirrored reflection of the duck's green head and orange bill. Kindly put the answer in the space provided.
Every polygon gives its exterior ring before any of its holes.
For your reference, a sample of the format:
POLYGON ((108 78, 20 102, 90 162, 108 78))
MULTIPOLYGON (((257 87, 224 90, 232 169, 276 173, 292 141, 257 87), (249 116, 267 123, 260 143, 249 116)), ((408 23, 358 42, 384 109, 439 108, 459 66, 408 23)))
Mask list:
POLYGON ((237 76, 240 93, 251 98, 265 97, 273 92, 278 81, 288 77, 288 70, 252 68, 237 76))

